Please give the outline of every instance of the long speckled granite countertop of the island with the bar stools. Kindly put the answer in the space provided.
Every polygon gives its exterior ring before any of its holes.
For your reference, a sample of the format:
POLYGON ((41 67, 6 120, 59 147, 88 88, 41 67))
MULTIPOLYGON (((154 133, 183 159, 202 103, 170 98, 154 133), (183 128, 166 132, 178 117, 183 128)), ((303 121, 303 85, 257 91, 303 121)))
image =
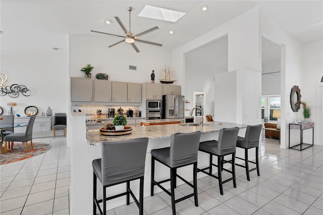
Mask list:
POLYGON ((189 123, 185 124, 171 124, 171 125, 156 125, 156 126, 140 126, 133 127, 132 133, 121 136, 106 136, 101 135, 98 129, 89 130, 87 134, 87 142, 90 145, 101 145, 101 142, 106 141, 120 141, 129 140, 138 137, 148 137, 149 139, 164 139, 171 137, 172 134, 181 132, 189 133, 194 131, 201 131, 204 133, 212 133, 220 131, 222 128, 246 128, 247 125, 225 123, 225 122, 207 122, 203 127, 191 126, 189 123), (189 126, 187 126, 189 125, 189 126))

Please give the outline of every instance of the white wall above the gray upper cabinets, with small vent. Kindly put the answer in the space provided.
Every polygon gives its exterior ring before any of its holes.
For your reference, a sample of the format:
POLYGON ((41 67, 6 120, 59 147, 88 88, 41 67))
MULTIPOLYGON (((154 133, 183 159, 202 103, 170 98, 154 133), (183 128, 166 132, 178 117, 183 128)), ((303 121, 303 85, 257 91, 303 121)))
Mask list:
MULTIPOLYGON (((91 64, 92 79, 97 73, 106 73, 109 80, 143 83, 150 82, 151 71, 155 71, 155 82, 164 78, 165 65, 170 66, 171 75, 178 78, 178 73, 171 67, 171 50, 164 47, 137 44, 140 52, 122 42, 111 48, 107 47, 106 36, 70 35, 69 39, 69 75, 70 77, 85 77, 80 72, 86 64, 91 64), (129 70, 129 65, 137 66, 137 71, 129 70)), ((174 83, 176 84, 176 82, 174 83)))

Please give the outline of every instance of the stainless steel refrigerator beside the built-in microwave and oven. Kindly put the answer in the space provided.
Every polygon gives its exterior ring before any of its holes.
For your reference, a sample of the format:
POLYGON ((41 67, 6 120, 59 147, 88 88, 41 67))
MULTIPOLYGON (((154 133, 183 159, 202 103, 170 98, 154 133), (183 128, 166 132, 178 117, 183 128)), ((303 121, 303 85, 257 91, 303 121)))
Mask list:
POLYGON ((163 119, 184 119, 184 95, 163 95, 163 119))

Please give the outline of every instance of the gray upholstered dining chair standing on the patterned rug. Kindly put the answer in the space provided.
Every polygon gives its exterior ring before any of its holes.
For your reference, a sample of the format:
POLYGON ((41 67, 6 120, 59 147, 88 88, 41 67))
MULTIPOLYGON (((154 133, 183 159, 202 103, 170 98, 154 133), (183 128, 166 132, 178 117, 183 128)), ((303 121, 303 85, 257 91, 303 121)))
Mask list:
POLYGON ((11 149, 13 149, 14 142, 22 142, 26 144, 26 149, 27 151, 29 151, 28 141, 30 141, 31 147, 34 148, 34 146, 32 145, 32 129, 34 126, 35 119, 36 116, 30 117, 25 133, 13 133, 5 136, 5 153, 7 153, 8 142, 11 142, 11 149))

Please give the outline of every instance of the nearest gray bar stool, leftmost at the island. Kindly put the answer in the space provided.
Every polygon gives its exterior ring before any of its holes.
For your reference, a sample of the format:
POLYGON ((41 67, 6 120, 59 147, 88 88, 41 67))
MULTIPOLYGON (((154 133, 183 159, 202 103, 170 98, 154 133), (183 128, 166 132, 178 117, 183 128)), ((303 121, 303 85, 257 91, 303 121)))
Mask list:
POLYGON ((130 194, 139 207, 139 214, 143 214, 143 179, 145 172, 145 159, 148 138, 136 138, 125 141, 103 142, 102 158, 92 161, 93 166, 93 215, 96 206, 100 214, 106 214, 106 200, 111 200, 123 195, 127 196, 129 205, 130 194), (96 197, 96 179, 103 186, 103 198, 96 197), (130 189, 130 181, 140 180, 139 201, 130 189), (126 183, 126 192, 111 197, 106 197, 106 188, 117 184, 126 183), (99 203, 103 202, 103 213, 99 203))

